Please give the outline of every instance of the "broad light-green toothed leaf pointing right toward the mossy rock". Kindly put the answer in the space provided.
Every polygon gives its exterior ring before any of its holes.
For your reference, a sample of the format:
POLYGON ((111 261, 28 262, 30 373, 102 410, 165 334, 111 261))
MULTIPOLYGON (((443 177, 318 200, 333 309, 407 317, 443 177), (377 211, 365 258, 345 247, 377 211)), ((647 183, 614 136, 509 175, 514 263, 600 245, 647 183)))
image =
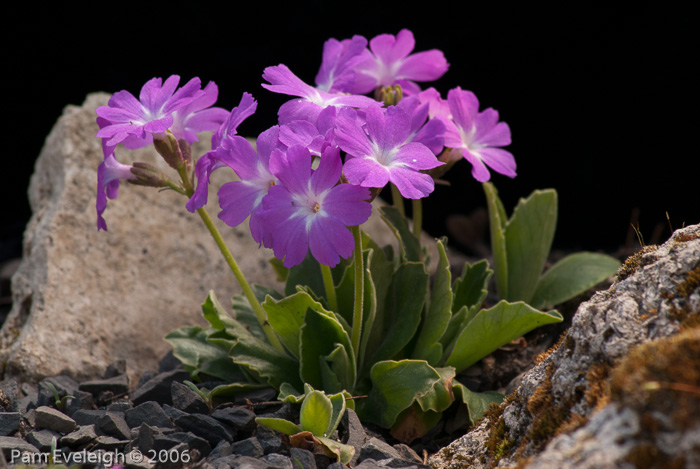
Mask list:
POLYGON ((467 324, 457 337, 445 365, 455 367, 459 373, 523 334, 562 320, 556 311, 538 311, 522 301, 500 301, 493 308, 479 311, 467 324))

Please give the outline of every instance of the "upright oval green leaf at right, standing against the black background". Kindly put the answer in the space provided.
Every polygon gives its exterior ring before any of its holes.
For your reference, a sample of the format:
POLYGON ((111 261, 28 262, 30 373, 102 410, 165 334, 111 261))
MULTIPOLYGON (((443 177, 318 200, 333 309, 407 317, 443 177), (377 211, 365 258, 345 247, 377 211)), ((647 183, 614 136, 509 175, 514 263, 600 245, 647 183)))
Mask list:
POLYGON ((501 299, 529 303, 552 248, 557 227, 557 193, 534 191, 520 199, 506 226, 508 294, 501 299))

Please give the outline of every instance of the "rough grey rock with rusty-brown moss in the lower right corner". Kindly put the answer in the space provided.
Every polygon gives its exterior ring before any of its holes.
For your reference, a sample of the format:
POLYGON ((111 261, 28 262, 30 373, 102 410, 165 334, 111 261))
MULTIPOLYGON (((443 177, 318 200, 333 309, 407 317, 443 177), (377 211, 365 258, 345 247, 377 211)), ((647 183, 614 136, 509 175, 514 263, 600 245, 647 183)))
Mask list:
POLYGON ((435 468, 700 467, 700 225, 646 247, 435 468))

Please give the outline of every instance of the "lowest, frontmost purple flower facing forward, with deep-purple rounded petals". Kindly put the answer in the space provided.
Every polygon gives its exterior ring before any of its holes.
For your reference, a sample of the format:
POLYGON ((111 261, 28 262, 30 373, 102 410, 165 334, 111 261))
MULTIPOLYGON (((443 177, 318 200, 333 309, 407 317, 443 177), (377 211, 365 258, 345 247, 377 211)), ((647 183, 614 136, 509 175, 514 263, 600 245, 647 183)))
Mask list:
POLYGON ((281 184, 270 188, 260 216, 285 267, 300 264, 309 249, 321 264, 336 266, 354 249, 347 227, 361 225, 372 213, 367 189, 338 184, 343 165, 337 147, 326 148, 315 171, 311 161, 300 145, 270 156, 270 170, 281 184))

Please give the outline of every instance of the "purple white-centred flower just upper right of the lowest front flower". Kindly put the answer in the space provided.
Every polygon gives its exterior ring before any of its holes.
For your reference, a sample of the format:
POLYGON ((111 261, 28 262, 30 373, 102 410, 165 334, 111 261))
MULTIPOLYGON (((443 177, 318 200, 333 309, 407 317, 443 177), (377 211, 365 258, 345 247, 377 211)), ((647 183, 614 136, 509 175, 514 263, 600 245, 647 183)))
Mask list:
POLYGON ((351 184, 384 187, 392 182, 408 199, 430 194, 433 179, 421 170, 439 162, 422 143, 407 142, 411 118, 401 108, 389 106, 386 114, 379 108, 367 109, 366 131, 352 110, 341 110, 336 121, 336 141, 348 155, 343 174, 351 184))

